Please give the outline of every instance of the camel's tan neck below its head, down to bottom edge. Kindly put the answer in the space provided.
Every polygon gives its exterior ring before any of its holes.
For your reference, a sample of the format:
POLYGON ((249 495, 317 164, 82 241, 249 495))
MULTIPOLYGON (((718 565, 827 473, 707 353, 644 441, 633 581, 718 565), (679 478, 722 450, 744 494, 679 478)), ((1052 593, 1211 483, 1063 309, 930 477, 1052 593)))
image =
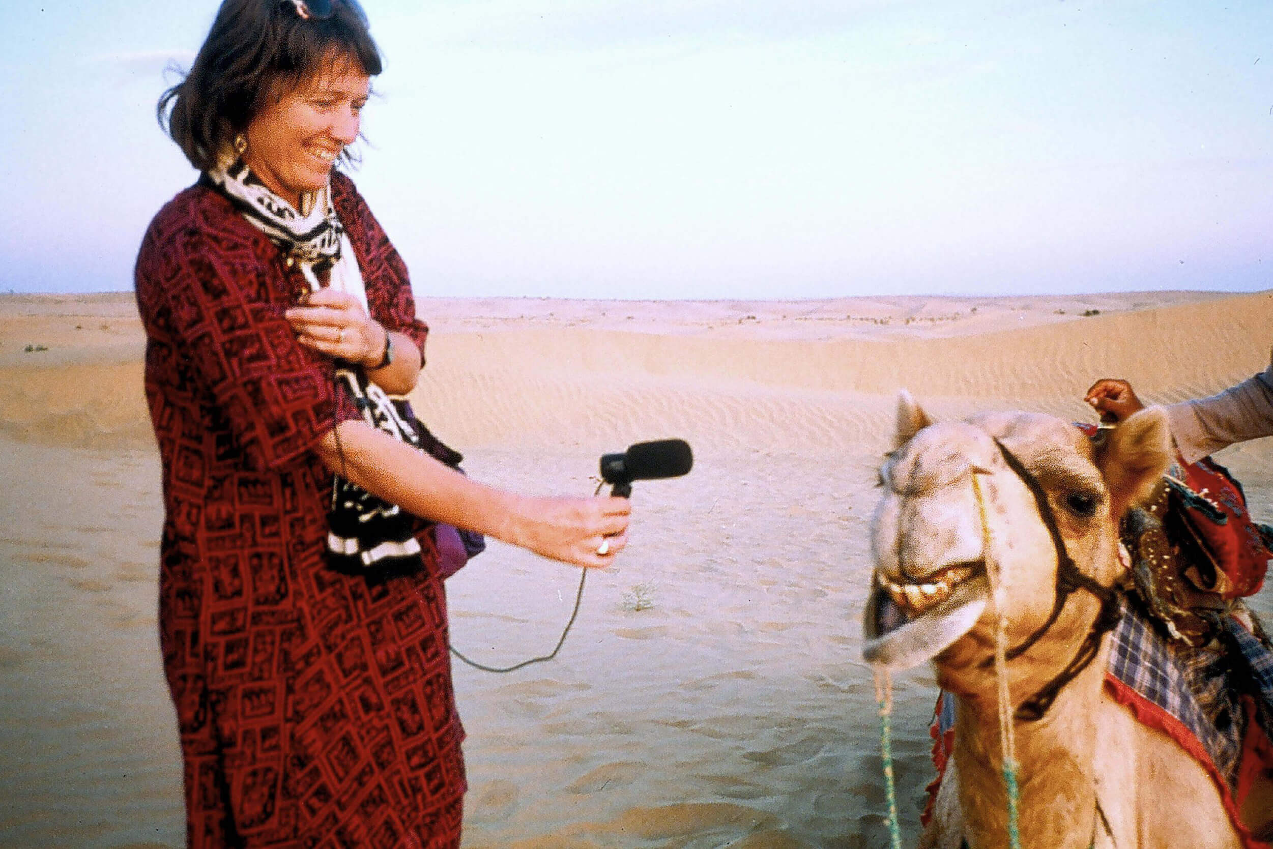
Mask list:
MULTIPOLYGON (((1106 650, 1100 652, 1066 685, 1043 719, 1015 723, 1022 846, 1087 849, 1091 844, 1096 812, 1094 718, 1105 657, 1106 650)), ((957 698, 956 712, 955 762, 967 845, 1006 846, 1008 802, 993 691, 987 698, 957 698)))

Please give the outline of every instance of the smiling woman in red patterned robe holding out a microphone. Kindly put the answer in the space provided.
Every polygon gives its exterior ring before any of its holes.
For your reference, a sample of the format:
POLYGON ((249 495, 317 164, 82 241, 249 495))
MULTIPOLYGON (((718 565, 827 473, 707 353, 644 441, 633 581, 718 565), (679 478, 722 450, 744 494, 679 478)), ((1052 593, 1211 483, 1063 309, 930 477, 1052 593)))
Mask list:
POLYGON ((626 542, 625 499, 470 481, 391 402, 426 327, 332 171, 379 70, 353 0, 224 0, 159 102, 202 172, 136 267, 191 846, 458 845, 438 545, 402 510, 582 566, 626 542))

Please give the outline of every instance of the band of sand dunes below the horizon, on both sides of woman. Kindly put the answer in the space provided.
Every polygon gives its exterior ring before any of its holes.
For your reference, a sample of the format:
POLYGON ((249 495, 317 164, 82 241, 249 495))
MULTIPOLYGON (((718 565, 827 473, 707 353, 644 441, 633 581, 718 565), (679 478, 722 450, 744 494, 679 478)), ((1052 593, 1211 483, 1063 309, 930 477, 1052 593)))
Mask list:
MULTIPOLYGON (((936 307, 941 299, 429 299, 423 308, 439 318, 416 403, 440 433, 474 446, 661 428, 731 447, 858 444, 900 387, 939 409, 984 398, 1077 416, 1095 377, 1127 377, 1166 402, 1263 368, 1273 294, 1189 294, 1167 293, 1161 307, 1144 293, 936 307), (1100 314, 1083 316, 1091 311, 1100 314), (925 313, 959 318, 904 323, 925 313), (621 328, 620 316, 644 330, 621 328), (863 333, 862 316, 890 323, 863 333)), ((149 443, 144 340, 129 295, 0 299, 0 432, 46 444, 149 443)))

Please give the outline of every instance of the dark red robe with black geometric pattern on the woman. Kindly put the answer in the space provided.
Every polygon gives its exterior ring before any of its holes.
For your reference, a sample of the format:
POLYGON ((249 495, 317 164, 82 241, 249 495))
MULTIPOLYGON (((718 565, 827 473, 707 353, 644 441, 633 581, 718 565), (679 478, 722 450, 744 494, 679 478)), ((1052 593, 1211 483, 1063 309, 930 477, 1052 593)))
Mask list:
MULTIPOLYGON (((331 186, 372 316, 423 351, 406 267, 353 182, 331 186)), ((424 535, 414 574, 325 568, 331 475, 313 448, 359 416, 283 317, 304 290, 201 185, 159 211, 137 256, 190 846, 458 846, 463 731, 437 552, 424 535)))

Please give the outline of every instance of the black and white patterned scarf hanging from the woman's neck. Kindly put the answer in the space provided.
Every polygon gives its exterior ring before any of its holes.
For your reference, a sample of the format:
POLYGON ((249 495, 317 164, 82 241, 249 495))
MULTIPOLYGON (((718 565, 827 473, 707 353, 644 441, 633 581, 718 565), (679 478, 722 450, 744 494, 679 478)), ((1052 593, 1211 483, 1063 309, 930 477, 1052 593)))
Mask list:
MULTIPOLYGON (((270 191, 242 159, 233 159, 206 176, 243 218, 297 261, 312 289, 321 288, 326 276, 327 285, 355 295, 370 314, 363 275, 332 206, 330 185, 302 195, 298 210, 270 191)), ((340 387, 337 391, 346 392, 354 401, 368 425, 448 465, 460 462, 458 453, 443 446, 416 420, 406 398, 386 393, 368 379, 360 365, 337 360, 334 381, 340 387)), ((335 476, 327 513, 327 561, 334 569, 414 572, 420 565, 418 527, 419 521, 398 505, 368 493, 342 475, 335 476)), ((465 542, 466 551, 472 554, 468 541, 465 542)))

